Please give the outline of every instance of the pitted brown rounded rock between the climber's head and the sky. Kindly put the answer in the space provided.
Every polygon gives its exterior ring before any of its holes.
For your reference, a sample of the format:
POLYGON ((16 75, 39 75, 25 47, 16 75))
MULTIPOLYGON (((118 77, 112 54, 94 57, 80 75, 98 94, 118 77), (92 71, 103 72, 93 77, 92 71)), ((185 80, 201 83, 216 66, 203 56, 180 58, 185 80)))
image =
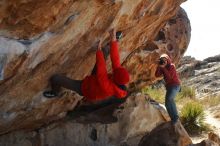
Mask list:
POLYGON ((129 87, 137 90, 155 82, 154 74, 160 54, 167 53, 177 63, 188 46, 189 30, 189 20, 181 9, 175 17, 168 20, 153 40, 148 40, 134 50, 124 62, 132 74, 129 87))

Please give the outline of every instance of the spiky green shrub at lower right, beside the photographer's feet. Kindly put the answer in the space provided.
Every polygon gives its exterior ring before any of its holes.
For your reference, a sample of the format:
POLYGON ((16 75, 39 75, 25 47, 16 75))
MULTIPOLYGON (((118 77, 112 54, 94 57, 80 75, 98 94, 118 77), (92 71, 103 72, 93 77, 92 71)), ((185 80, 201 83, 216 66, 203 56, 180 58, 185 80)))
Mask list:
POLYGON ((204 109, 198 102, 192 101, 184 105, 180 117, 182 124, 191 134, 197 134, 207 129, 204 124, 204 109))

